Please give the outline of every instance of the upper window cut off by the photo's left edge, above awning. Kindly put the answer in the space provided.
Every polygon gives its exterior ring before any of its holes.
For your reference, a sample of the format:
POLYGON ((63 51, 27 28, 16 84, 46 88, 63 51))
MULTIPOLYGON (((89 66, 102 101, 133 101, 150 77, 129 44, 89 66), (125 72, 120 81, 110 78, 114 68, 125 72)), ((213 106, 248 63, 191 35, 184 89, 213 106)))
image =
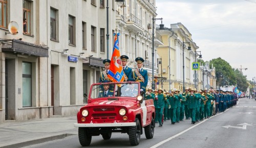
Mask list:
POLYGON ((7 28, 7 0, 0 0, 0 27, 7 28))

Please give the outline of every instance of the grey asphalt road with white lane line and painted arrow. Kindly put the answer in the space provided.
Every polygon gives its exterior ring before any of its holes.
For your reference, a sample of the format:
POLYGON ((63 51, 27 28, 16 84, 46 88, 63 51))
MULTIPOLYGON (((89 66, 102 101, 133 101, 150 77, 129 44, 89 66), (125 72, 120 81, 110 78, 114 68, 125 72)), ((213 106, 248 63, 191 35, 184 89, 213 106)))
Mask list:
MULTIPOLYGON (((256 101, 240 98, 236 107, 209 119, 190 124, 191 120, 172 125, 170 120, 162 128, 156 125, 153 139, 141 140, 136 147, 256 147, 256 101)), ((26 147, 81 147, 78 135, 26 147)), ((110 140, 93 136, 89 147, 135 147, 127 134, 113 133, 110 140)))

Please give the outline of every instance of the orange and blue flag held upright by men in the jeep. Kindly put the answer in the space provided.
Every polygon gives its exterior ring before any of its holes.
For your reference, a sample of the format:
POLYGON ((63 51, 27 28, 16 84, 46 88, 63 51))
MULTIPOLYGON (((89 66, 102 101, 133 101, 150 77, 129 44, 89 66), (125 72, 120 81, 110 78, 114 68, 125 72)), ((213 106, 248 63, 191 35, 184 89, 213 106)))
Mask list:
POLYGON ((119 42, 118 42, 119 33, 115 33, 114 35, 115 35, 115 40, 114 40, 113 53, 111 57, 110 70, 109 70, 108 76, 112 82, 123 82, 124 75, 123 75, 123 68, 122 68, 122 63, 120 59, 119 42))

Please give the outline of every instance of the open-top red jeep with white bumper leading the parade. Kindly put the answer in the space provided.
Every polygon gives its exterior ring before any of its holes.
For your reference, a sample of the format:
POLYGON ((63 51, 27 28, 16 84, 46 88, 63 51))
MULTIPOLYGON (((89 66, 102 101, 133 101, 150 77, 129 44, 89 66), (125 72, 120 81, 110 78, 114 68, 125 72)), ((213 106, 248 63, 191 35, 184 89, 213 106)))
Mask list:
POLYGON ((153 138, 154 103, 152 99, 144 100, 139 88, 139 82, 93 84, 88 104, 77 113, 74 124, 80 144, 88 146, 92 136, 102 135, 108 140, 113 132, 120 132, 129 135, 131 145, 138 145, 142 128, 147 139, 153 138))

